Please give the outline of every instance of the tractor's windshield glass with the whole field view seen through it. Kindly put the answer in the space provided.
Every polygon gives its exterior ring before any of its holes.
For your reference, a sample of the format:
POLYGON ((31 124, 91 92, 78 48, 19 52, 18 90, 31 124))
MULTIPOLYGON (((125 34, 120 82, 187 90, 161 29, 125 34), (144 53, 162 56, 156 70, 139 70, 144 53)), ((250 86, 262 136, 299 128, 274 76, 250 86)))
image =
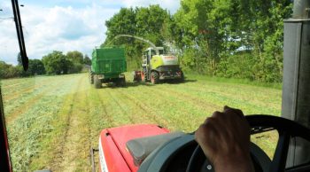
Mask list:
MULTIPOLYGON (((11 1, 0 9, 14 171, 89 171, 89 148, 98 147, 102 129, 143 123, 192 132, 225 105, 281 114, 283 20, 291 0, 19 0, 27 71, 11 1), (177 58, 143 62, 148 42, 177 58)), ((270 158, 272 136, 261 144, 270 158)))

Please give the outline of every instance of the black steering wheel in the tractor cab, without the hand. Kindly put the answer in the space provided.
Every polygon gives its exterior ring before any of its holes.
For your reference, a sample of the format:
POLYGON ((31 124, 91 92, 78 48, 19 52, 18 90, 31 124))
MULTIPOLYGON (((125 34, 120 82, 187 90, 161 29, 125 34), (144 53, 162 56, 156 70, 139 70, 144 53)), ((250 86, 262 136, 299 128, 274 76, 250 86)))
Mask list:
MULTIPOLYGON (((302 137, 307 141, 310 141, 310 129, 298 124, 296 121, 265 114, 248 115, 245 116, 245 119, 249 122, 250 127, 252 128, 252 134, 260 133, 261 130, 266 129, 276 129, 279 133, 279 140, 275 148, 274 159, 268 163, 267 168, 266 166, 265 168, 261 167, 264 172, 284 171, 291 137, 302 137)), ((258 148, 258 146, 255 147, 255 145, 252 144, 251 150, 253 148, 252 146, 254 146, 254 149, 258 148)), ((266 156, 261 157, 264 159, 266 156)), ((263 165, 261 162, 259 163, 260 165, 263 165)), ((210 163, 210 160, 205 157, 205 154, 199 145, 192 153, 186 171, 214 171, 213 165, 210 163)))

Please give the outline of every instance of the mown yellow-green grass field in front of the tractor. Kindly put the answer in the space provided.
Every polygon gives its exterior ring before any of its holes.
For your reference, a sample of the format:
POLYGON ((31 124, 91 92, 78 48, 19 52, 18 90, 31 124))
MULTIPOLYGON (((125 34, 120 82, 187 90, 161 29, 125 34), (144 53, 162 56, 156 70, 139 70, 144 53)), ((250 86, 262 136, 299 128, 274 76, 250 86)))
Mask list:
MULTIPOLYGON (((281 112, 279 89, 210 81, 189 75, 183 83, 130 82, 96 90, 87 74, 3 80, 4 113, 16 171, 90 171, 89 148, 105 128, 156 123, 191 132, 228 105, 245 114, 281 112)), ((252 137, 271 155, 274 135, 252 137), (270 139, 267 139, 269 137, 270 139)))

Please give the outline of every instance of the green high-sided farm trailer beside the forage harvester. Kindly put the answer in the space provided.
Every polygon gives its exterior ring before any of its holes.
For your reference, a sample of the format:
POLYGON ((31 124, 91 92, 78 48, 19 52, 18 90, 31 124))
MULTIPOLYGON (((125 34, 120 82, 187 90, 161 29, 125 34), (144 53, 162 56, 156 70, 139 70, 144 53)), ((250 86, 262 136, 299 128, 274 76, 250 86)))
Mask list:
POLYGON ((117 85, 125 85, 127 64, 124 48, 96 48, 92 52, 89 81, 95 88, 101 88, 102 83, 114 82, 117 85))

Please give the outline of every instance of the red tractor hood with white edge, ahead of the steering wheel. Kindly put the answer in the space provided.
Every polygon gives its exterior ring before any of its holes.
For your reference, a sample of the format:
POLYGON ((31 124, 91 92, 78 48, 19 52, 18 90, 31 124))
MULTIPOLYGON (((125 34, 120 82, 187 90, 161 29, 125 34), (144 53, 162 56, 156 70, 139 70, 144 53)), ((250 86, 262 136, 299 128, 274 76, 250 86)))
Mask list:
POLYGON ((126 143, 139 137, 151 137, 168 133, 157 125, 131 125, 104 129, 99 138, 99 164, 101 171, 136 172, 138 167, 128 152, 126 143))

